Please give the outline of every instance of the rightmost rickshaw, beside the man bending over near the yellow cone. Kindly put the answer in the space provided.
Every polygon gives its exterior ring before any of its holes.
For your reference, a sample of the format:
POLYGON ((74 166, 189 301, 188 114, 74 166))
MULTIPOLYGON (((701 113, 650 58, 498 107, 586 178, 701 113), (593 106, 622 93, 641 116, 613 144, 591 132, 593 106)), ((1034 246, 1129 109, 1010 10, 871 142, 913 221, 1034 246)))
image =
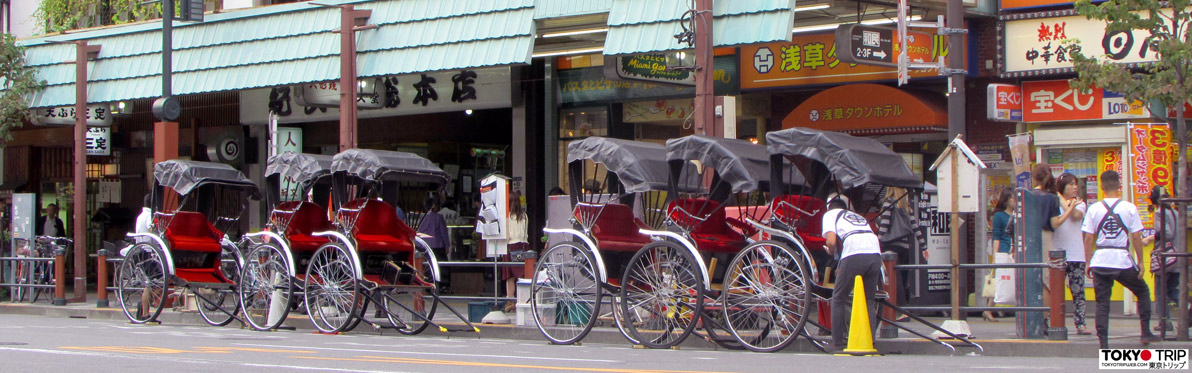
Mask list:
MULTIPOLYGON (((824 198, 833 192, 842 193, 849 197, 851 209, 855 212, 873 222, 882 212, 882 200, 887 194, 886 188, 900 187, 905 189, 906 193, 899 195, 899 199, 914 198, 913 194, 923 188, 923 181, 911 172, 900 155, 871 138, 793 128, 769 132, 765 141, 766 150, 770 154, 771 179, 806 178, 811 187, 801 189, 802 193, 790 193, 791 191, 780 191, 771 185, 774 199, 770 204, 770 224, 769 226, 759 225, 759 228, 775 240, 796 247, 800 253, 805 254, 800 259, 806 260, 805 267, 812 269, 812 286, 809 288, 819 305, 818 312, 820 315, 819 323, 814 321, 808 321, 808 323, 821 329, 822 332, 827 332, 832 328, 831 319, 826 317, 827 313, 831 313, 827 300, 831 299, 832 290, 821 286, 827 279, 820 278, 819 273, 822 273, 833 259, 824 247, 825 242, 820 230, 824 213, 827 212, 824 198)), ((884 268, 882 268, 882 273, 884 281, 884 268)), ((879 291, 877 305, 901 312, 901 309, 886 297, 883 291, 879 291)), ((944 330, 913 313, 901 313, 957 341, 981 348, 968 338, 944 330)), ((943 344, 955 352, 950 344, 881 317, 881 309, 879 309, 877 315, 880 322, 943 344)), ((812 337, 806 330, 800 330, 800 332, 807 336, 817 348, 826 352, 826 342, 812 337)))

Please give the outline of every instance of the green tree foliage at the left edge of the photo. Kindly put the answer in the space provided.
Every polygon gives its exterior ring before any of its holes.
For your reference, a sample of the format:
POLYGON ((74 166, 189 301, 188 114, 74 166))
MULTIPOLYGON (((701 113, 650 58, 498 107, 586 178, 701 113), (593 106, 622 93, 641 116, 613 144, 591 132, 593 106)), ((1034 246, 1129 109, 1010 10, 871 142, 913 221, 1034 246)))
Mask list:
POLYGON ((29 98, 45 87, 36 70, 25 63, 25 48, 8 33, 0 35, 0 147, 12 138, 12 129, 32 119, 29 98))

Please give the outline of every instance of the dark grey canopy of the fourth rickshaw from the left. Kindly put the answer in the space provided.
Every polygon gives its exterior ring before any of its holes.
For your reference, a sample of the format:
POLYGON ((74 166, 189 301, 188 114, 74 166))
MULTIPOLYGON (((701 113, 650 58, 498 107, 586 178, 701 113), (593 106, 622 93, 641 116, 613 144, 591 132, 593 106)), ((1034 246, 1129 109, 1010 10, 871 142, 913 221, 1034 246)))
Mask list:
POLYGON ((625 193, 665 191, 666 149, 660 144, 608 137, 588 137, 567 145, 567 163, 589 160, 616 174, 625 193))

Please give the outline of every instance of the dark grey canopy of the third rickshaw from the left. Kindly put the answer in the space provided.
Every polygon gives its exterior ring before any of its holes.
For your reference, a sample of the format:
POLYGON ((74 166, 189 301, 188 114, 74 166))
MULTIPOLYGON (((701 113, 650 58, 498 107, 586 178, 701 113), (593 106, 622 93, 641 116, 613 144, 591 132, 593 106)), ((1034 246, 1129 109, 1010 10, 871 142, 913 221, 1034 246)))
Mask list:
POLYGON ((451 175, 416 154, 375 149, 348 149, 331 158, 333 173, 348 173, 365 180, 396 175, 401 181, 433 182, 446 186, 451 175))

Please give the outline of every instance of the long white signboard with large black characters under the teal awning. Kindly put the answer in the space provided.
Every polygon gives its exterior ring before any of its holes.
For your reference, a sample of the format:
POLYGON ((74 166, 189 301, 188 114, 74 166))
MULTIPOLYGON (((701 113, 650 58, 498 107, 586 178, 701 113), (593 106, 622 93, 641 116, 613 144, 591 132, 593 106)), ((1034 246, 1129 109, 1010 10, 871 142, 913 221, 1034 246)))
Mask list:
MULTIPOLYGON (((359 111, 359 118, 383 118, 451 111, 509 107, 509 68, 460 69, 380 79, 384 107, 359 111)), ((240 94, 243 124, 266 124, 269 110, 279 123, 335 122, 334 107, 308 107, 294 100, 294 87, 250 89, 240 94)))

